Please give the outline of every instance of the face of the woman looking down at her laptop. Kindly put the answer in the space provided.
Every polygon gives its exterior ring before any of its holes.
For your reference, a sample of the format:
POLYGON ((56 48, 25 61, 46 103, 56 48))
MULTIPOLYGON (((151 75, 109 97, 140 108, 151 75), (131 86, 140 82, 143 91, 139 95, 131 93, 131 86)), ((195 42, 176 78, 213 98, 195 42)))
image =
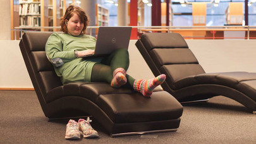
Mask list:
POLYGON ((84 25, 79 16, 75 13, 70 20, 66 20, 66 27, 70 35, 78 36, 82 32, 84 25))

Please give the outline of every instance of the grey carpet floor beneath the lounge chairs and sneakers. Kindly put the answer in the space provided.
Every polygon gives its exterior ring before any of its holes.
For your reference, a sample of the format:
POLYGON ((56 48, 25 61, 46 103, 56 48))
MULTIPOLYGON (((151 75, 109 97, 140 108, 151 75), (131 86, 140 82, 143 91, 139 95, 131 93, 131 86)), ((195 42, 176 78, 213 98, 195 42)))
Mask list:
POLYGON ((66 123, 48 122, 34 91, 0 90, 0 143, 256 143, 256 115, 226 97, 183 105, 176 132, 111 138, 93 119, 100 138, 65 140, 66 123))

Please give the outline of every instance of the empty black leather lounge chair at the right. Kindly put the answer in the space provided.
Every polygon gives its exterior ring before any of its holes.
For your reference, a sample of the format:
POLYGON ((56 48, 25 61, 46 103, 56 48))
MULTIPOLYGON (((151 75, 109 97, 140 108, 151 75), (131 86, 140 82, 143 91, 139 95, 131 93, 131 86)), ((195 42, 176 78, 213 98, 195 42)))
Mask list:
POLYGON ((161 85, 179 102, 229 97, 256 111, 256 73, 205 73, 178 33, 145 33, 136 43, 154 75, 166 74, 161 85))

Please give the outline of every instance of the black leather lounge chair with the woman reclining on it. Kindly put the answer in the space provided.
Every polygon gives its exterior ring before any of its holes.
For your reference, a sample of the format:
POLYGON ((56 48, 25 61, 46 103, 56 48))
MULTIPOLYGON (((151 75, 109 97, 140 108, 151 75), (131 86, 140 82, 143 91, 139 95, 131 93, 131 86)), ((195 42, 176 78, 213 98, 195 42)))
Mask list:
POLYGON ((49 119, 93 116, 111 136, 176 131, 182 105, 168 92, 147 98, 107 83, 63 85, 46 57, 51 32, 27 32, 20 49, 42 111, 49 119))

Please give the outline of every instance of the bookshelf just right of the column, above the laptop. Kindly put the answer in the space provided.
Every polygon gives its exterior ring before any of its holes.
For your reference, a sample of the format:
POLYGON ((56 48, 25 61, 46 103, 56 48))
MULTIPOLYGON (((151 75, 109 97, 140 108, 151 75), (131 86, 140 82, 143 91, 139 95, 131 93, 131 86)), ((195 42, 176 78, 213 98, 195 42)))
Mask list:
POLYGON ((96 25, 108 26, 109 25, 109 10, 100 4, 96 4, 96 25))

